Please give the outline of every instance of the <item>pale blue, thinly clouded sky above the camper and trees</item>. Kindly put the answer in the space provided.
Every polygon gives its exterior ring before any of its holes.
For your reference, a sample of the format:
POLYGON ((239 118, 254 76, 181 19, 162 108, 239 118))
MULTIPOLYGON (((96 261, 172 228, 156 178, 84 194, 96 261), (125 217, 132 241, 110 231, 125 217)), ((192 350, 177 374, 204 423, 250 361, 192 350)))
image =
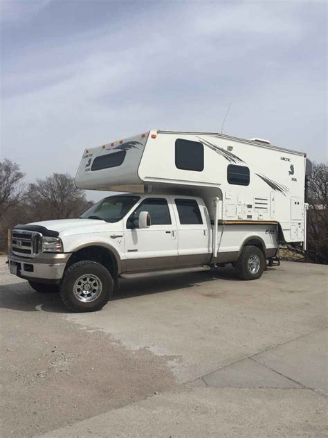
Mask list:
MULTIPOLYGON (((0 157, 33 182, 149 129, 327 159, 325 1, 1 0, 0 157)), ((99 194, 88 193, 99 199, 99 194)))

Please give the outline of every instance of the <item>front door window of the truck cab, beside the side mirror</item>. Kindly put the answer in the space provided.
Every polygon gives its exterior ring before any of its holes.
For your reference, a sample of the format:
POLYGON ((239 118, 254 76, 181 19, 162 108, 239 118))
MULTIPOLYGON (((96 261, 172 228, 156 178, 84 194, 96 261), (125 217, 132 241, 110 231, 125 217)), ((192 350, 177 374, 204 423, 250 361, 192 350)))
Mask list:
POLYGON ((164 198, 147 198, 136 208, 127 220, 127 228, 139 227, 139 214, 141 211, 148 211, 152 225, 171 225, 170 210, 167 200, 164 198))

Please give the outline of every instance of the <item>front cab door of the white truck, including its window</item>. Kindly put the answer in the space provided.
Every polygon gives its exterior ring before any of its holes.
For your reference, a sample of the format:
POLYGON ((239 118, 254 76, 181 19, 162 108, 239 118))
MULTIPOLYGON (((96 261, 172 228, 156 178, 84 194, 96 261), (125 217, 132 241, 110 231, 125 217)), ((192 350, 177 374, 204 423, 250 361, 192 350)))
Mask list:
POLYGON ((156 270, 176 265, 178 239, 170 198, 154 195, 143 198, 125 219, 127 271, 156 270), (141 211, 150 213, 149 228, 138 227, 141 211))

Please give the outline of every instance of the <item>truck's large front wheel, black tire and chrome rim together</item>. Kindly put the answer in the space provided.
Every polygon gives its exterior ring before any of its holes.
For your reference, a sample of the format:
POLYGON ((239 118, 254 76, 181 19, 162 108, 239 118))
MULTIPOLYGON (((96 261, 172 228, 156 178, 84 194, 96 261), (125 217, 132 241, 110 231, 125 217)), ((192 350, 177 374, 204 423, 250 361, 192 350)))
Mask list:
POLYGON ((113 292, 109 271, 95 261, 78 261, 62 279, 60 297, 72 312, 94 312, 107 304, 113 292))

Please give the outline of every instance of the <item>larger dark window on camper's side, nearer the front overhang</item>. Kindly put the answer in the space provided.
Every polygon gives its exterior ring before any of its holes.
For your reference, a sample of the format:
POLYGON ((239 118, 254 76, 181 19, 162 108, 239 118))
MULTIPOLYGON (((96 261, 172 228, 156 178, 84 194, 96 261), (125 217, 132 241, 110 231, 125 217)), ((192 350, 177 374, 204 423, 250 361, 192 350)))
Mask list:
POLYGON ((175 165, 178 169, 196 170, 204 169, 204 146, 200 141, 176 139, 175 165))

